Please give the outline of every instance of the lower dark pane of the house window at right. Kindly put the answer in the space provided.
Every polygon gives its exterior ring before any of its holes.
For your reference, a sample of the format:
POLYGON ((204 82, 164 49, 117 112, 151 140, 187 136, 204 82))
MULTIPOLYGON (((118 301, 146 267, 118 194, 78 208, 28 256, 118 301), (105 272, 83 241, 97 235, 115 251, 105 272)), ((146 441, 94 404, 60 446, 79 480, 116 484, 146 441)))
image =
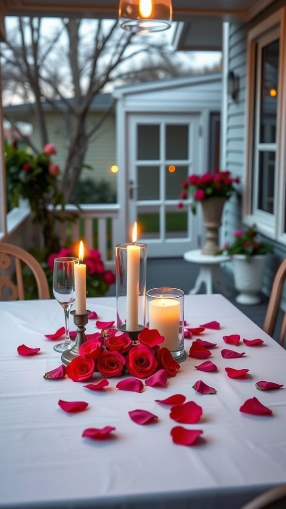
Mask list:
POLYGON ((260 152, 258 208, 273 214, 275 152, 260 152))

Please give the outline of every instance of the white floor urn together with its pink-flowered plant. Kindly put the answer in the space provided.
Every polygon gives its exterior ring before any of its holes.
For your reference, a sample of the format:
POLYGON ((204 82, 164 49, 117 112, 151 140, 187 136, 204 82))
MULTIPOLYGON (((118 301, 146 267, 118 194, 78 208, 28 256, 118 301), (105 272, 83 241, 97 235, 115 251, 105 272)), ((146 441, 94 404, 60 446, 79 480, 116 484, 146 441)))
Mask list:
POLYGON ((216 254, 228 254, 234 267, 234 284, 239 293, 239 304, 259 304, 258 292, 262 289, 267 254, 273 251, 271 244, 258 241, 255 225, 247 230, 236 230, 232 244, 226 242, 216 254))

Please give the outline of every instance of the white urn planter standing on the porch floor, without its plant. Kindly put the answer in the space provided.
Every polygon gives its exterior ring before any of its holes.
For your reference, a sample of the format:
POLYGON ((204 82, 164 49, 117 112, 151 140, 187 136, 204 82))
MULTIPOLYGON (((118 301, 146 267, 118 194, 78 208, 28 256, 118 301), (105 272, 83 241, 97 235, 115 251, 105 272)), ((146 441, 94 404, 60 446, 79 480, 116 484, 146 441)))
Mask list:
POLYGON ((253 305, 261 302, 258 292, 262 289, 266 260, 267 254, 256 254, 250 262, 246 261, 244 254, 233 255, 234 284, 240 292, 235 300, 239 304, 253 305))

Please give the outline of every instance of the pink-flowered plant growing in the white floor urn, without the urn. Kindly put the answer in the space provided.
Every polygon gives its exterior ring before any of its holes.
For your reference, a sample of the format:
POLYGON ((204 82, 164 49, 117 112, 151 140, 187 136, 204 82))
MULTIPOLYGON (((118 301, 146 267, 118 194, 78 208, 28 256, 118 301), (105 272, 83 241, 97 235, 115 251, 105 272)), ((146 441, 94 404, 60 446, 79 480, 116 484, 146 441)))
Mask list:
POLYGON ((256 231, 255 224, 247 230, 236 230, 234 232, 234 241, 232 244, 225 242, 216 254, 245 254, 246 261, 251 262, 251 259, 256 254, 268 254, 273 252, 271 244, 259 241, 258 232, 256 231))

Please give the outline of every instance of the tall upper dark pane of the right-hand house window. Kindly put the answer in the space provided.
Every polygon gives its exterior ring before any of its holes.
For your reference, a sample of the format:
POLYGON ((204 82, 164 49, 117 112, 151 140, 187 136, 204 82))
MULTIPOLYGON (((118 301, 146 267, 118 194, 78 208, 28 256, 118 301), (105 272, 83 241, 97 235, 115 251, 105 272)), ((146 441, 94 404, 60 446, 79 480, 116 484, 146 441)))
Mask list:
POLYGON ((279 40, 262 50, 260 142, 275 143, 278 96, 279 40))

